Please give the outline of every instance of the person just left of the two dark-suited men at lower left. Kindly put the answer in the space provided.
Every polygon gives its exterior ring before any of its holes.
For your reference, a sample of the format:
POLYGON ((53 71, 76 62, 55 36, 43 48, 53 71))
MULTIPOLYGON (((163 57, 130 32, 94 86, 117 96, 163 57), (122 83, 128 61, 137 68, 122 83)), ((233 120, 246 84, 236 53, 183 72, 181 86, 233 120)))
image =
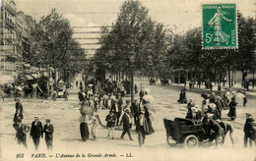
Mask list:
POLYGON ((27 133, 29 133, 31 128, 22 123, 21 119, 17 120, 17 131, 16 138, 18 140, 18 144, 23 143, 23 145, 27 148, 27 133))

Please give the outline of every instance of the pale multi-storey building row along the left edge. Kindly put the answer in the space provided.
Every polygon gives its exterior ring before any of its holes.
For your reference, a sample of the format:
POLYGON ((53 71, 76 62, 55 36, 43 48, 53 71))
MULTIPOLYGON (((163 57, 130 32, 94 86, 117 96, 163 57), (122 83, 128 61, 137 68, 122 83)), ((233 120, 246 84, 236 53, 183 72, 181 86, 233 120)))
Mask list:
POLYGON ((35 21, 31 16, 17 11, 13 0, 3 0, 0 25, 0 73, 2 81, 11 81, 24 70, 25 55, 30 53, 32 28, 35 21))

